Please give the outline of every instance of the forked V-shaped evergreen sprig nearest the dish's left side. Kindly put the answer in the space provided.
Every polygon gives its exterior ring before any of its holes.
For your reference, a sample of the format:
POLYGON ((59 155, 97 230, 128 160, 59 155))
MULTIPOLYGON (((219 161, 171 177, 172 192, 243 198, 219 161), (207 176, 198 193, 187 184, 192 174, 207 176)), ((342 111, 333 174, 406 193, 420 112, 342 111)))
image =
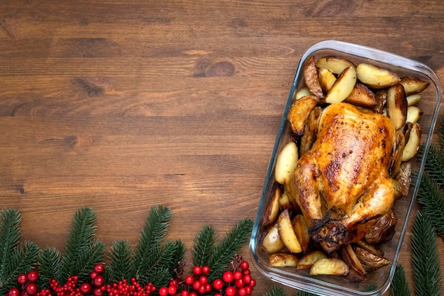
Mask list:
POLYGON ((252 231, 251 219, 243 218, 226 234, 218 244, 215 243, 215 232, 205 226, 194 241, 195 265, 207 265, 211 268, 208 280, 212 281, 221 275, 227 267, 227 262, 233 260, 248 240, 252 231))

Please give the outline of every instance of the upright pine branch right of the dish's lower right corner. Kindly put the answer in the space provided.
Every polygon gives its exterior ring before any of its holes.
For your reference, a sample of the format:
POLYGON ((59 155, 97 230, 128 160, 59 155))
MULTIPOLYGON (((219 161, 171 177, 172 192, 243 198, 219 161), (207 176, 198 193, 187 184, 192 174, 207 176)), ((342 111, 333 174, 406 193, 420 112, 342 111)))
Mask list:
POLYGON ((441 272, 435 229, 421 211, 416 212, 411 241, 416 295, 440 295, 441 272))

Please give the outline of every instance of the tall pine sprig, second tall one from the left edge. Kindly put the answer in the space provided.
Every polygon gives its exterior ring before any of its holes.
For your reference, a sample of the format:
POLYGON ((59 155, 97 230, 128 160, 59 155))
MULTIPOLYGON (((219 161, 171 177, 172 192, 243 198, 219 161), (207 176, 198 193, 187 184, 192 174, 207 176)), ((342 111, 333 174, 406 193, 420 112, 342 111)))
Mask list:
MULTIPOLYGON (((63 281, 66 281, 71 275, 87 277, 85 268, 89 268, 89 272, 92 270, 94 267, 92 259, 97 258, 100 253, 103 258, 104 245, 94 241, 95 222, 96 213, 90 207, 84 207, 74 214, 60 266, 63 281), (102 249, 103 251, 101 251, 102 249)), ((101 261, 99 259, 95 263, 101 261)))

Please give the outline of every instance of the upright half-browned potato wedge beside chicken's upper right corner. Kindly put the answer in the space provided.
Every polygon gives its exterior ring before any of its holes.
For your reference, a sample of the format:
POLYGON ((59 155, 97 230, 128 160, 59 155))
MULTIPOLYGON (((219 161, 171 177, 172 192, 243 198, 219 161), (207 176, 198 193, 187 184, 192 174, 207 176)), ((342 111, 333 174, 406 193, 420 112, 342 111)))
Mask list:
POLYGON ((387 90, 387 116, 396 130, 404 127, 407 120, 407 98, 401 84, 390 86, 387 90))

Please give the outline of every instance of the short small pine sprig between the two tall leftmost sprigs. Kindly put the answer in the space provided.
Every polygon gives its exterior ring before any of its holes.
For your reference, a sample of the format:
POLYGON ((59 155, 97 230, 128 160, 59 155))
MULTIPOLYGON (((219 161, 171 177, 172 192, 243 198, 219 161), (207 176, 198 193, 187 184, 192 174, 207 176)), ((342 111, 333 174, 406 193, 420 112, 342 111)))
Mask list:
POLYGON ((49 288, 49 280, 52 278, 59 283, 62 282, 61 261, 62 254, 56 248, 43 249, 38 252, 39 283, 43 288, 49 288))

